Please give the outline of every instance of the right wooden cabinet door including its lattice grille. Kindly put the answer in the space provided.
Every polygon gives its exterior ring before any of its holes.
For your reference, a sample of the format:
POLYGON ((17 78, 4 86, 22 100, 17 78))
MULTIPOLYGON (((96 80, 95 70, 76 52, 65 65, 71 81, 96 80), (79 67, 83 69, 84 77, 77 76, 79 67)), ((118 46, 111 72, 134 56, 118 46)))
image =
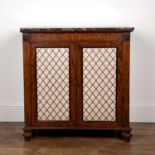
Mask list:
POLYGON ((81 42, 77 55, 78 124, 93 128, 121 126, 121 43, 81 42))

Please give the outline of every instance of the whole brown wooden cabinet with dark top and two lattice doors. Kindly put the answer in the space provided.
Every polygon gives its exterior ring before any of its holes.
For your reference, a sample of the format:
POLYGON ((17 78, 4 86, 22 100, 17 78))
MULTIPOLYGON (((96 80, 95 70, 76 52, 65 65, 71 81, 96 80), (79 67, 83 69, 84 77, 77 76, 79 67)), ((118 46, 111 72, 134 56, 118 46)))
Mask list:
POLYGON ((21 28, 25 140, 33 130, 117 130, 130 140, 134 28, 21 28))

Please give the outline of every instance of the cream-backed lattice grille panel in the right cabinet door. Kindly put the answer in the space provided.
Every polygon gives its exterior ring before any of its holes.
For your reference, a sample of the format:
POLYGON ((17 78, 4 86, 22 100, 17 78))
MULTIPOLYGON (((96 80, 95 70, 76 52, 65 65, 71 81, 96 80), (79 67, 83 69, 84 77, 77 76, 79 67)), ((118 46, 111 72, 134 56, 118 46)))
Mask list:
POLYGON ((83 48, 83 120, 116 121, 116 48, 83 48))

